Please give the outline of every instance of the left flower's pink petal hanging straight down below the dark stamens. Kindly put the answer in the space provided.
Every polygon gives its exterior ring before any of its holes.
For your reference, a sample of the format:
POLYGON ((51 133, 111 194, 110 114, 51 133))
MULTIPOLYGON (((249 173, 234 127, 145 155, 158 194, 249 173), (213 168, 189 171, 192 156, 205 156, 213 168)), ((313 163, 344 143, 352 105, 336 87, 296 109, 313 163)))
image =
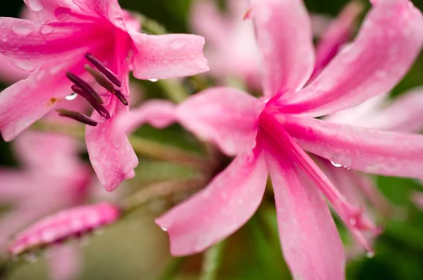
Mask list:
MULTIPOLYGON (((115 99, 116 102, 116 99, 115 99)), ((118 111, 124 112, 128 107, 118 104, 118 111)), ((97 117, 97 113, 94 112, 97 117)), ((117 116, 97 126, 87 126, 85 139, 90 162, 100 183, 111 192, 127 178, 133 178, 133 169, 138 165, 137 155, 125 133, 117 130, 117 116)))

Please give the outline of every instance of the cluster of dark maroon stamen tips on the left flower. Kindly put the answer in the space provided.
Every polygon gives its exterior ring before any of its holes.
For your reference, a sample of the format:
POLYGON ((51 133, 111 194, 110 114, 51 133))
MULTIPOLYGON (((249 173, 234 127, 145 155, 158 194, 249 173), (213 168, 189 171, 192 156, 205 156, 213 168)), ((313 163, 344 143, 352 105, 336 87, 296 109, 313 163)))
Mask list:
MULTIPOLYGON (((118 75, 109 70, 109 68, 106 68, 106 66, 104 66, 104 64, 94 55, 85 54, 85 58, 92 64, 92 66, 94 66, 92 67, 89 64, 85 64, 85 71, 90 73, 90 75, 94 77, 99 85, 101 85, 112 95, 115 95, 125 106, 128 106, 128 99, 125 98, 120 90, 122 87, 122 81, 118 75)), ((85 82, 85 80, 82 80, 71 72, 66 73, 66 77, 73 83, 71 89, 73 92, 75 92, 75 94, 84 97, 102 118, 105 120, 109 120, 111 118, 109 111, 107 111, 103 105, 104 102, 102 97, 94 90, 94 88, 92 88, 89 83, 85 82)), ((88 126, 97 126, 98 123, 98 121, 94 120, 93 118, 85 116, 85 114, 77 111, 69 111, 67 109, 56 109, 56 111, 60 116, 72 118, 75 121, 85 123, 88 126)))

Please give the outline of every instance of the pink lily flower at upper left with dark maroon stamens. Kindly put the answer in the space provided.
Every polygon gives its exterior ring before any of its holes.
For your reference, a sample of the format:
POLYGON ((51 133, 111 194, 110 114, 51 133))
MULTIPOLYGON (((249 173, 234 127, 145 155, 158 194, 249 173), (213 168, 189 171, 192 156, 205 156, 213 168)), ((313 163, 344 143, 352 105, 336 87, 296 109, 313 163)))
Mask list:
POLYGON ((164 79, 207 71, 204 39, 142 34, 140 24, 117 0, 25 0, 25 4, 37 22, 0 18, 0 54, 31 71, 26 80, 0 94, 1 135, 12 140, 76 92, 94 107, 92 117, 63 109, 59 114, 88 125, 90 161, 106 190, 114 190, 133 177, 137 166, 126 136, 110 129, 116 116, 128 111, 129 72, 140 79, 164 79), (90 75, 101 86, 85 82, 90 75))

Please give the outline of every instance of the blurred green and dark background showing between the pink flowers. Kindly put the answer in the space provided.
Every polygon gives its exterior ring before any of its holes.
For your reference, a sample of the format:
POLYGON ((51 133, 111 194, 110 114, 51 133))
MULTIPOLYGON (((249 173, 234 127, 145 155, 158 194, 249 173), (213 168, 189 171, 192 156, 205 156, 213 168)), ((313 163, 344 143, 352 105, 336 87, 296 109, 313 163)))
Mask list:
MULTIPOLYGON (((123 8, 140 11, 166 26, 169 32, 190 32, 189 0, 121 0, 123 8)), ((423 1, 413 1, 423 8, 423 1)), ((348 0, 306 0, 309 11, 336 16, 348 0)), ((224 7, 223 1, 221 1, 224 7)), ((2 1, 0 16, 16 17, 22 1, 2 1)), ((393 95, 423 84, 423 60, 420 57, 407 77, 396 87, 393 95)), ((163 92, 151 83, 141 83, 147 97, 160 97, 163 92)), ((173 126, 157 132, 142 129, 142 135, 154 140, 173 143, 180 138, 181 128, 173 126)), ((189 146, 192 138, 184 134, 182 146, 189 146), (184 142, 185 139, 185 142, 184 142)), ((174 143, 173 143, 174 144, 174 143)), ((15 165, 10 145, 0 142, 0 164, 15 165)), ((170 166, 169 169, 172 167, 170 166)), ((142 161, 139 170, 148 169, 149 176, 167 174, 160 163, 148 159, 142 161), (160 166, 157 167, 157 166, 160 166)), ((142 173, 142 172, 140 172, 142 173)), ((412 190, 423 190, 416 181, 401 178, 377 178, 380 190, 396 205, 405 209, 404 217, 386 221, 385 232, 376 241, 376 256, 359 257, 348 264, 348 279, 423 279, 423 213, 408 200, 412 190)), ((168 240, 153 222, 159 212, 142 209, 125 221, 112 226, 102 236, 92 236, 90 244, 82 248, 84 267, 80 279, 159 279, 172 267, 178 267, 178 279, 197 279, 201 255, 189 257, 183 262, 168 255, 168 240)), ((342 231, 342 229, 341 229, 342 231)), ((274 210, 260 209, 259 214, 238 233, 228 239, 223 255, 223 267, 219 279, 290 279, 283 262, 276 233, 274 210), (264 225, 266 224, 266 226, 264 225), (270 226, 269 226, 270 225, 270 226)), ((170 270, 169 270, 170 269, 170 270)), ((47 279, 47 266, 41 259, 36 264, 25 264, 13 274, 18 279, 47 279)))

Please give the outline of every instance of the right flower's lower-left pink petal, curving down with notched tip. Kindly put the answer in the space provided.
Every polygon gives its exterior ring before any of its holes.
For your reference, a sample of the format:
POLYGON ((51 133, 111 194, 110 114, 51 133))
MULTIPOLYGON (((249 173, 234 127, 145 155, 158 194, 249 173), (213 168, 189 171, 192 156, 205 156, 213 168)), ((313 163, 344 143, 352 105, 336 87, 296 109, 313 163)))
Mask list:
POLYGON ((240 154, 204 190, 159 217, 172 255, 201 252, 243 226, 262 201, 266 179, 259 151, 240 154))

